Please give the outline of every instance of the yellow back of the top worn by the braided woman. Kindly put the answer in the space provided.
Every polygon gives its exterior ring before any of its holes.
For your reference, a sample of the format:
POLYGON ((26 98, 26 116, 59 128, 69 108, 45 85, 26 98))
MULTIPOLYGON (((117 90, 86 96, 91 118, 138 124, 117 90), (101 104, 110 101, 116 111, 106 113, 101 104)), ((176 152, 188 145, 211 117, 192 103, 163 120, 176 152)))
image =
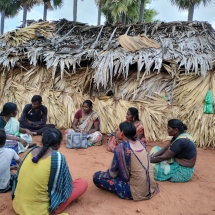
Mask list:
POLYGON ((37 164, 31 159, 29 153, 20 169, 13 207, 20 215, 48 215, 51 156, 41 158, 37 164))

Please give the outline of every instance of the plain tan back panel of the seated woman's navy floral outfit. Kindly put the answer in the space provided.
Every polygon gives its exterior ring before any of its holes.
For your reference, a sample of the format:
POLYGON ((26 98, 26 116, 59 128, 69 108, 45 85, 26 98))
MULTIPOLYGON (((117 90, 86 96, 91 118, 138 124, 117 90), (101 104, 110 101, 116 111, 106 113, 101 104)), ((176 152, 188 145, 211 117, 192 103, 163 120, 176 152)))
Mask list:
POLYGON ((148 161, 147 151, 145 148, 142 148, 141 150, 132 150, 130 188, 133 199, 138 201, 151 198, 151 195, 149 195, 149 187, 151 194, 153 195, 157 189, 157 184, 154 181, 153 169, 148 161), (149 177, 147 176, 147 171, 149 171, 149 177))

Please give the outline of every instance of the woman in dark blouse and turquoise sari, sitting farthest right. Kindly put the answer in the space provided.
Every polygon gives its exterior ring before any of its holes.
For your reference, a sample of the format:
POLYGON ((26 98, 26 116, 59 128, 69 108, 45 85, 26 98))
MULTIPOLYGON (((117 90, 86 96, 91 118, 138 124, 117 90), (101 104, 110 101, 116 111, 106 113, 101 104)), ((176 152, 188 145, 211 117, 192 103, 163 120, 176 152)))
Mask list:
POLYGON ((150 151, 156 180, 186 182, 192 178, 197 151, 192 137, 185 130, 187 126, 180 120, 169 120, 168 133, 173 136, 172 140, 164 148, 155 146, 150 151))

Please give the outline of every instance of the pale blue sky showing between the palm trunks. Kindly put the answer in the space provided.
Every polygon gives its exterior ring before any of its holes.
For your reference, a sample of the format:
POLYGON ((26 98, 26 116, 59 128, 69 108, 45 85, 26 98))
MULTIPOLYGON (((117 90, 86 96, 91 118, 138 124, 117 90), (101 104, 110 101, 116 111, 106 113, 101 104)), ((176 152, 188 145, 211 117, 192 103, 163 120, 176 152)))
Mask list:
MULTIPOLYGON (((78 0, 78 12, 77 21, 88 23, 90 25, 97 24, 97 7, 94 0, 78 0)), ((159 14, 156 19, 161 21, 186 21, 187 11, 179 11, 178 8, 172 6, 169 0, 151 0, 151 4, 148 8, 155 9, 159 14)), ((48 11, 48 20, 59 20, 62 18, 72 20, 73 19, 73 0, 64 0, 63 7, 58 10, 48 11)), ((35 6, 32 11, 27 15, 27 19, 42 19, 43 18, 43 6, 35 6)), ((207 7, 201 5, 195 9, 194 20, 208 21, 215 29, 215 0, 211 0, 211 3, 207 7)), ((22 11, 13 19, 5 20, 5 32, 14 30, 17 26, 21 25, 22 11)), ((102 17, 102 23, 105 18, 102 17)))

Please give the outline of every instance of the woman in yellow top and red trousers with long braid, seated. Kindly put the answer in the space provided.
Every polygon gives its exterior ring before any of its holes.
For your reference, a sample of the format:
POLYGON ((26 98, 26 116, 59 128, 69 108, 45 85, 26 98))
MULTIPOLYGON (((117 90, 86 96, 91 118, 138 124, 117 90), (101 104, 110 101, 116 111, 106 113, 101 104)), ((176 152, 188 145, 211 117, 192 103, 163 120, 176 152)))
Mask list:
POLYGON ((87 182, 72 181, 66 159, 57 151, 61 140, 59 130, 46 130, 43 147, 32 148, 20 164, 17 186, 13 189, 13 208, 17 214, 60 214, 86 191, 87 182))

